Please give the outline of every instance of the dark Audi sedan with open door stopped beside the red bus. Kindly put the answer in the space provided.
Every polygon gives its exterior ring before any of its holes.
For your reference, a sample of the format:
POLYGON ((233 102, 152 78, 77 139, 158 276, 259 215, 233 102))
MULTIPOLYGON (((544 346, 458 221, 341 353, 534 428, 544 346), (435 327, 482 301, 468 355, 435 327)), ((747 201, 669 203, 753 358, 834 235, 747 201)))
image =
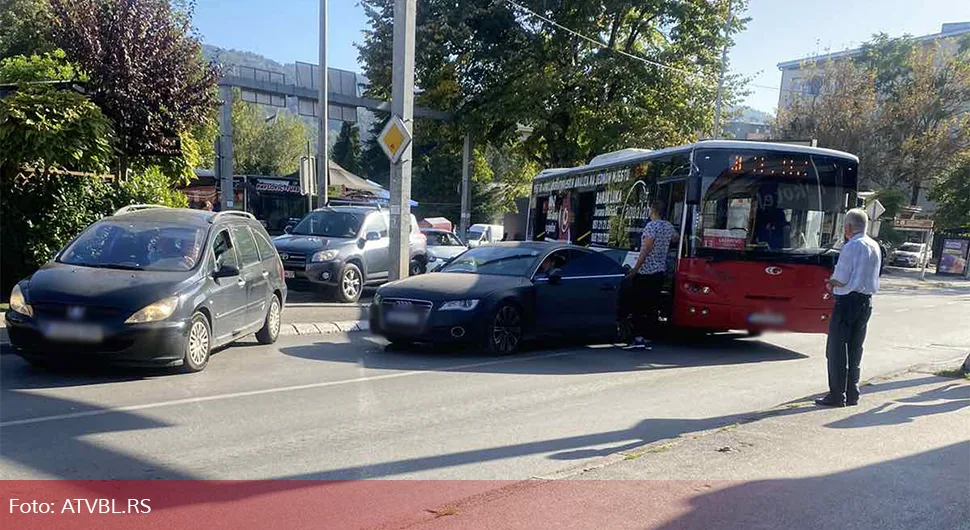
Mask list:
POLYGON ((392 343, 468 343, 499 354, 536 337, 612 338, 622 281, 620 264, 594 250, 497 243, 384 285, 370 326, 392 343))

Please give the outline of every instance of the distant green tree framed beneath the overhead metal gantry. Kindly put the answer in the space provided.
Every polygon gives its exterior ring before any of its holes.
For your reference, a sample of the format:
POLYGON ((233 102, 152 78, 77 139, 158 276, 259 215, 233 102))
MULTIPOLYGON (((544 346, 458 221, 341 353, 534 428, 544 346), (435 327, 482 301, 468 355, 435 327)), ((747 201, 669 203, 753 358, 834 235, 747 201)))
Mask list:
POLYGON ((270 116, 264 107, 234 96, 232 104, 233 168, 251 175, 286 175, 300 168, 306 154, 307 126, 288 111, 270 116))

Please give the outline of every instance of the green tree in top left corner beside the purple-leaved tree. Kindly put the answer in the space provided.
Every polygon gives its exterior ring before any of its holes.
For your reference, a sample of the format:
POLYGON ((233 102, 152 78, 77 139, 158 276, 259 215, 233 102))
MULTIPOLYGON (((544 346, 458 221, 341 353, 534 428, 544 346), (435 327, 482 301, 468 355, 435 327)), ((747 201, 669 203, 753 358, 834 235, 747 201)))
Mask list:
POLYGON ((0 58, 54 51, 48 0, 0 0, 0 58))

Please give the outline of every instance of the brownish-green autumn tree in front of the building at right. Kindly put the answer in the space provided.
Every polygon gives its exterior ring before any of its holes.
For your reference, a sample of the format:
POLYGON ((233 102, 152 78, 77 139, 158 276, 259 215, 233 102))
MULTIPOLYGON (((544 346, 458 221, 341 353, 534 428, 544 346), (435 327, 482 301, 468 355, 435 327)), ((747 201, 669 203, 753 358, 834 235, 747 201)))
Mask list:
POLYGON ((970 150, 970 39, 877 35, 855 60, 810 68, 822 89, 779 113, 783 138, 858 154, 869 185, 903 187, 915 205, 970 150))

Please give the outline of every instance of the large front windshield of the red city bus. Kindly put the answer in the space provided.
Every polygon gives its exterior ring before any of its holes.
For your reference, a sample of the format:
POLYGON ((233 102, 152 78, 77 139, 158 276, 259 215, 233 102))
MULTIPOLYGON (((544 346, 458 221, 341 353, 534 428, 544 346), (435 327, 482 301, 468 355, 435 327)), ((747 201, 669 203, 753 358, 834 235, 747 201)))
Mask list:
POLYGON ((780 151, 698 150, 696 256, 817 256, 842 242, 856 164, 780 151))

